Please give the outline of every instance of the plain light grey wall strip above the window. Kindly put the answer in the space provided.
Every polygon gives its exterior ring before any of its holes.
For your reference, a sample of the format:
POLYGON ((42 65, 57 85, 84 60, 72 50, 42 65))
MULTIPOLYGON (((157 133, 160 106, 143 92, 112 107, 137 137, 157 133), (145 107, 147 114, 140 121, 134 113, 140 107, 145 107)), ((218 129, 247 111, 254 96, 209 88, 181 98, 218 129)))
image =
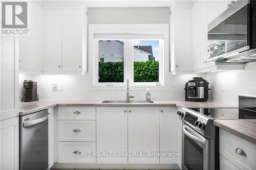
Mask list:
MULTIPOLYGON (((136 3, 136 2, 135 2, 136 3)), ((169 23, 170 10, 161 8, 88 8, 88 23, 169 23)))

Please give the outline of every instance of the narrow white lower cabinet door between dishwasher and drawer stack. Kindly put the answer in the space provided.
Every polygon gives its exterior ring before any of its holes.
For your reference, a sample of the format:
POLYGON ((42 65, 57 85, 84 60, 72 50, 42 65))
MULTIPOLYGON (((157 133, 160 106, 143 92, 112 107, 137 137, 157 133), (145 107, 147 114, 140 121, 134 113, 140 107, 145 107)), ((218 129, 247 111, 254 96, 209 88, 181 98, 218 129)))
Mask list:
POLYGON ((53 108, 48 109, 49 116, 48 116, 48 168, 54 164, 54 116, 53 116, 53 108))

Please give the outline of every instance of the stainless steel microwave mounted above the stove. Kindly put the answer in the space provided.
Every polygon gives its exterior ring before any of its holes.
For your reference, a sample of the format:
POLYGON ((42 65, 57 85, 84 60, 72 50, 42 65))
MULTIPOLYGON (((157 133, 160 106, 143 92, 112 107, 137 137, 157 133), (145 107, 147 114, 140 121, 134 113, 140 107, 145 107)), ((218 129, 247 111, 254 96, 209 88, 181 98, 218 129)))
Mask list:
POLYGON ((256 61, 256 1, 234 2, 208 24, 208 61, 256 61))

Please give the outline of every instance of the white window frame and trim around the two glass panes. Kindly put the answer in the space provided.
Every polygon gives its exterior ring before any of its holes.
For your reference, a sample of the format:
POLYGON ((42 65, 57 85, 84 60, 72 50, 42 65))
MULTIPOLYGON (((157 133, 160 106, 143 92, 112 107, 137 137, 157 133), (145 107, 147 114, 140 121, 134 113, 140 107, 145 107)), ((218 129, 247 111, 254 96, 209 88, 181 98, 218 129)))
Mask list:
MULTIPOLYGON (((141 89, 145 87, 153 89, 166 89, 168 63, 169 63, 169 26, 168 24, 91 24, 88 31, 88 54, 89 54, 89 69, 90 75, 90 89, 92 90, 104 90, 104 89, 123 89, 126 85, 126 78, 130 78, 130 87, 133 89, 141 89), (99 83, 98 82, 98 40, 107 39, 95 39, 95 34, 124 34, 124 33, 154 33, 162 34, 163 39, 143 39, 138 40, 159 40, 159 82, 161 85, 156 85, 156 82, 134 82, 134 48, 133 40, 127 39, 111 39, 124 41, 124 82, 121 83, 99 83), (132 48, 132 50, 131 50, 132 48)), ((110 39, 108 39, 110 40, 110 39)))

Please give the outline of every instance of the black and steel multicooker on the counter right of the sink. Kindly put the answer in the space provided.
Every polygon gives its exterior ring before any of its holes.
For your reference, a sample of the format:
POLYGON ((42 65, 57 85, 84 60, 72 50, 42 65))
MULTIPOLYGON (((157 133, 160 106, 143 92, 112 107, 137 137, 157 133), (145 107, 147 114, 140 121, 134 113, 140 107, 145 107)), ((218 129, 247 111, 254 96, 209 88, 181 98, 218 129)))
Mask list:
POLYGON ((209 83, 201 77, 194 77, 185 84, 185 101, 207 102, 209 98, 209 83))

